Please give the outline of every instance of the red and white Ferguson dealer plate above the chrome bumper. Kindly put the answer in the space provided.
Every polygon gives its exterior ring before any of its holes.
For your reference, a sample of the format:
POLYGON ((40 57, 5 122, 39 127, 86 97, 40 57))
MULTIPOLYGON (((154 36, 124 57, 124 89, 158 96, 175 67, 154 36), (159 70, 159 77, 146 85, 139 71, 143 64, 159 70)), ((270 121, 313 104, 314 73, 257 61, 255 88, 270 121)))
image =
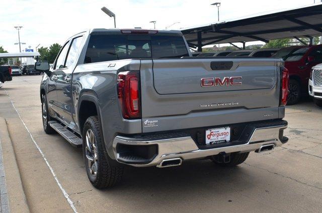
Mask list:
POLYGON ((206 144, 225 143, 230 141, 230 127, 206 130, 206 144))

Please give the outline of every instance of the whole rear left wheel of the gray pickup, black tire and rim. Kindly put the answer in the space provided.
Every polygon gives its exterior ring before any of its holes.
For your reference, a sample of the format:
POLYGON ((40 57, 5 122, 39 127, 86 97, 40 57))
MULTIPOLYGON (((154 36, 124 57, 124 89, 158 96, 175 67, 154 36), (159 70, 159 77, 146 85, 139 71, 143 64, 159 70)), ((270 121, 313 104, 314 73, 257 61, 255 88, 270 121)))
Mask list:
POLYGON ((83 130, 83 156, 87 176, 96 188, 112 187, 120 182, 123 176, 123 166, 107 159, 104 154, 104 147, 99 119, 97 116, 89 117, 83 130), (89 133, 90 136, 91 132, 94 137, 87 138, 87 134, 89 133), (93 143, 91 142, 92 139, 94 140, 93 143))

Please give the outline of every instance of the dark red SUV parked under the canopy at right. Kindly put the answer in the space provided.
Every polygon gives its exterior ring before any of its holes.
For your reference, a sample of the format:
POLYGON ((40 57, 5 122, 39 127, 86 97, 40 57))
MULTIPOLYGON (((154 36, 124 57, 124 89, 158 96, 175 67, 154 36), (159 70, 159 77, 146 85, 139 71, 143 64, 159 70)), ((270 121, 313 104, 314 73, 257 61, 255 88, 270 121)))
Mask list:
POLYGON ((322 63, 322 45, 286 47, 272 57, 280 57, 285 61, 290 76, 287 104, 297 103, 308 92, 311 68, 322 63))

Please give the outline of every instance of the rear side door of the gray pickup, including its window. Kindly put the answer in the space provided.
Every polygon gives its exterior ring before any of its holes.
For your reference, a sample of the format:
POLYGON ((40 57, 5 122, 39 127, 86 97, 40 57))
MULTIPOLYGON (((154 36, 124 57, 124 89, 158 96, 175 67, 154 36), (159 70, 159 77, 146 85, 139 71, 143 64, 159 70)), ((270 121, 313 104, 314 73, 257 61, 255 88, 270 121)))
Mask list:
POLYGON ((75 114, 72 100, 72 71, 79 47, 81 46, 83 36, 75 37, 71 40, 70 47, 66 54, 66 60, 63 68, 57 72, 57 102, 59 117, 71 129, 74 129, 73 114, 75 114))

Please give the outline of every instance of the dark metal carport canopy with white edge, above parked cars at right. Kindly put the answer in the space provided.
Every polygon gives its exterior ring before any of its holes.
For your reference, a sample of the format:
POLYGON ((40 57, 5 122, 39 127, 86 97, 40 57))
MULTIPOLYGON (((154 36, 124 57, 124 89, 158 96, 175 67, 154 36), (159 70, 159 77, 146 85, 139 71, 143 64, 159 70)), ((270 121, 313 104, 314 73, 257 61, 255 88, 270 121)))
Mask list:
POLYGON ((182 29, 188 45, 263 41, 291 37, 322 35, 322 3, 291 10, 280 10, 261 15, 217 22, 182 29))

